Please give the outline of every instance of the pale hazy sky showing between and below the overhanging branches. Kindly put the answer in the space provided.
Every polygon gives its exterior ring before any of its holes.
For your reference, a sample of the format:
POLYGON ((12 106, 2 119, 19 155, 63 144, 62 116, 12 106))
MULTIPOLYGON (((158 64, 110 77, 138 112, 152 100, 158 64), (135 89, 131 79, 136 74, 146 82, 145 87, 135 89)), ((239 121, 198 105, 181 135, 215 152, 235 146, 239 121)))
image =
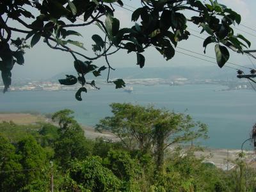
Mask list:
MULTIPOLYGON (((129 4, 130 6, 134 6, 134 7, 138 6, 138 4, 136 4, 138 2, 139 1, 135 1, 135 0, 124 1, 125 4, 129 4)), ((255 0, 221 0, 219 1, 219 3, 226 4, 233 10, 240 13, 242 16, 242 22, 241 22, 242 24, 250 28, 256 29, 256 22, 255 22, 256 13, 254 10, 256 7, 255 0)), ((132 8, 129 8, 129 9, 132 10, 132 8)), ((116 6, 115 14, 116 14, 116 17, 120 19, 122 27, 132 24, 131 12, 116 6)), ((197 29, 195 26, 192 26, 191 24, 189 24, 189 28, 195 29, 196 31, 200 31, 200 29, 197 29)), ((244 28, 244 26, 236 26, 236 28, 246 31, 248 33, 252 33, 253 35, 256 35, 255 31, 252 31, 248 28, 244 28)), ((90 26, 89 28, 86 27, 78 30, 83 35, 83 38, 77 38, 77 40, 83 42, 84 47, 88 49, 88 51, 83 51, 83 49, 81 49, 80 51, 84 52, 84 54, 88 56, 93 56, 93 52, 91 51, 92 50, 91 36, 95 33, 102 35, 102 32, 97 26, 90 26)), ((246 34, 243 31, 236 30, 236 33, 241 33, 244 36, 246 36, 246 38, 248 38, 252 42, 251 49, 256 49, 256 46, 254 44, 256 37, 246 34)), ((206 37, 204 34, 200 35, 195 31, 191 31, 191 33, 197 36, 202 36, 202 38, 206 37)), ((204 48, 202 47, 203 41, 204 40, 200 38, 196 38, 195 36, 190 36, 189 40, 180 42, 178 46, 185 49, 189 49, 191 51, 200 52, 201 54, 204 54, 203 52, 204 48)), ((182 50, 177 49, 177 51, 182 51, 182 50)), ((182 51, 182 52, 186 52, 186 51, 182 51)), ((189 52, 186 52, 186 53, 191 54, 189 52)), ((143 54, 146 57, 145 67, 170 67, 173 65, 179 65, 179 66, 182 65, 184 67, 187 67, 187 66, 199 67, 201 65, 206 65, 206 66, 214 65, 213 63, 197 60, 196 58, 191 58, 189 56, 185 56, 184 54, 180 54, 178 52, 176 52, 175 58, 169 61, 164 60, 163 56, 161 56, 159 52, 157 52, 155 49, 148 49, 143 54)), ((206 54, 208 56, 215 56, 213 45, 207 47, 206 54)), ((204 58, 202 56, 199 56, 199 57, 204 58)), ((211 59, 207 59, 207 60, 211 60, 211 59)), ((117 54, 109 57, 109 61, 111 62, 113 67, 117 68, 117 70, 119 67, 138 67, 138 65, 136 65, 136 55, 132 53, 126 54, 125 51, 120 51, 117 54)), ((243 56, 241 54, 238 55, 234 52, 231 53, 229 61, 233 63, 237 63, 239 65, 250 65, 250 60, 248 60, 246 56, 243 56)), ((93 63, 99 66, 106 65, 103 59, 93 61, 93 63)), ((44 44, 36 44, 35 47, 33 47, 33 49, 29 49, 26 51, 25 65, 24 66, 15 65, 15 67, 13 68, 13 77, 14 78, 15 77, 48 78, 60 72, 65 72, 70 70, 74 70, 73 58, 72 56, 70 56, 70 54, 68 54, 67 52, 52 50, 44 44)), ((141 69, 138 67, 138 70, 141 70, 141 69)), ((225 69, 223 70, 223 72, 225 72, 225 69)), ((236 76, 236 71, 234 71, 234 76, 236 76)))

